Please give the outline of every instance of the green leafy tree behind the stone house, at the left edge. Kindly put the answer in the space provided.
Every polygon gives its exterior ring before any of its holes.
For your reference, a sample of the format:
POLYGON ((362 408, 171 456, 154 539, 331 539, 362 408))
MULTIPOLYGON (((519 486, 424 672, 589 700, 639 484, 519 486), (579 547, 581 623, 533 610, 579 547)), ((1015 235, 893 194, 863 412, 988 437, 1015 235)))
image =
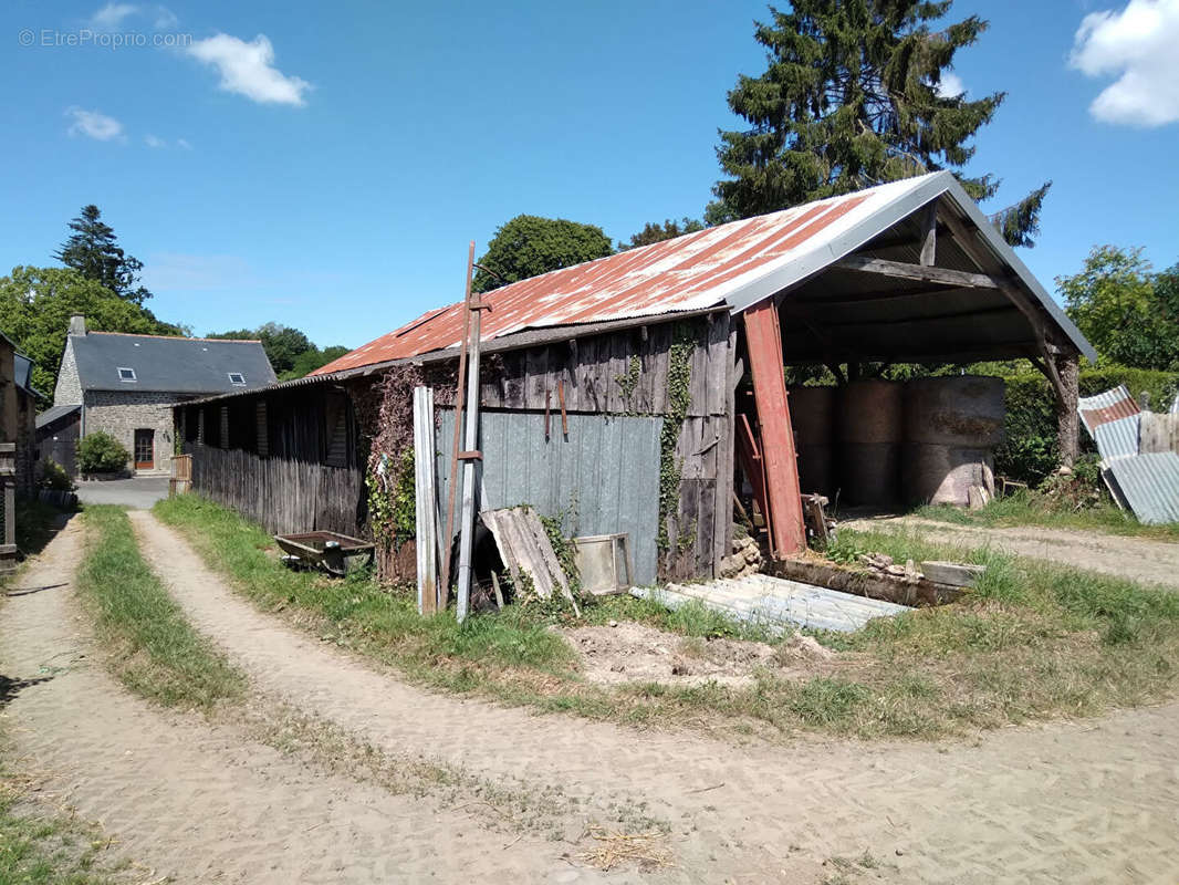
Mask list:
POLYGON ((0 277, 0 332, 32 358, 33 386, 47 395, 57 385, 70 316, 85 314, 97 332, 179 335, 144 307, 124 301, 97 280, 72 268, 13 268, 0 277))

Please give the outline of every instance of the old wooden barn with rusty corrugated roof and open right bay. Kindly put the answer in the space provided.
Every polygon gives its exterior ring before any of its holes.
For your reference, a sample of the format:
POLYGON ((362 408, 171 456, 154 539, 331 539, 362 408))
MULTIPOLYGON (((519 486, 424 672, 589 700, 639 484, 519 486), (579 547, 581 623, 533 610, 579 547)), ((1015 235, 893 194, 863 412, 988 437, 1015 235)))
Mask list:
MULTIPOLYGON (((735 498, 752 498, 776 556, 805 543, 797 447, 818 440, 796 439, 786 366, 851 385, 868 365, 1028 359, 1056 392, 1069 459, 1078 356, 1094 356, 948 172, 552 271, 482 303, 482 506, 625 530, 648 551, 637 576, 660 579, 717 573, 735 498)), ((435 391, 448 452, 463 321, 461 303, 429 310, 315 375, 178 406, 196 490, 274 531, 383 533, 400 549, 410 393, 435 391)), ((856 433, 854 413, 844 425, 856 433)), ((440 487, 446 471, 439 457, 440 487)))

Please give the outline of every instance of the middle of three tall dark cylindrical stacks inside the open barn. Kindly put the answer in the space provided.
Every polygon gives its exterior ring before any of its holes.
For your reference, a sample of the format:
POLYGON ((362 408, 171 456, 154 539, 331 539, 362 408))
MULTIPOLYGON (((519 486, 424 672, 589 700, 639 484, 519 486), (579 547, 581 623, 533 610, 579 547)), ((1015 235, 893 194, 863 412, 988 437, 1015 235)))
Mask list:
POLYGON ((836 422, 841 502, 878 507, 896 503, 903 415, 896 381, 864 379, 842 388, 836 422))

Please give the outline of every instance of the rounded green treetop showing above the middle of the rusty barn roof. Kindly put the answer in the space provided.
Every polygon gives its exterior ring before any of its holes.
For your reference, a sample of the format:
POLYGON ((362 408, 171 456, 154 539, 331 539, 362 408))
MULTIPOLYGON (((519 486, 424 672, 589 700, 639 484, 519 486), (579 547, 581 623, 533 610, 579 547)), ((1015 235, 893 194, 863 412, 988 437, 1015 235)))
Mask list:
POLYGON ((565 218, 518 215, 495 231, 487 253, 479 260, 495 273, 479 270, 473 288, 490 291, 505 283, 613 254, 614 247, 601 228, 565 218))

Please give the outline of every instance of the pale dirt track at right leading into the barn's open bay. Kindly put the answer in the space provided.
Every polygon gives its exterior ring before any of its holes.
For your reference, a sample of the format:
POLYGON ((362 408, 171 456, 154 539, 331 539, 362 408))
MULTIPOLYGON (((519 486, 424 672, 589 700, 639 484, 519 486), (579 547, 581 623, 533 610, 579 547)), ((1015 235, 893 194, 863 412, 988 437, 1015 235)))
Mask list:
POLYGON ((1078 569, 1179 590, 1179 544, 1161 540, 1032 525, 1017 529, 983 529, 920 517, 849 519, 839 523, 839 526, 859 531, 917 527, 923 538, 933 542, 968 548, 992 544, 1016 556, 1048 559, 1078 569))

